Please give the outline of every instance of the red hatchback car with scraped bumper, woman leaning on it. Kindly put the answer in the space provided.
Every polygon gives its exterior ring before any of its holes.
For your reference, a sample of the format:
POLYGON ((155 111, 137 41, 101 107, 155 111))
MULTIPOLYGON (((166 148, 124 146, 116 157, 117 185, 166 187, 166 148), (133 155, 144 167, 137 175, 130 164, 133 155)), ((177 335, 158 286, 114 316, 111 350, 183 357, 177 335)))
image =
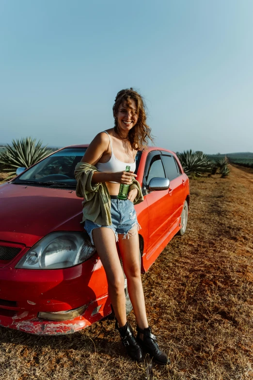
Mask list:
MULTIPOLYGON (((0 185, 0 325, 35 334, 65 334, 111 313, 104 268, 83 230, 74 170, 87 145, 60 149, 0 185)), ((141 270, 178 232, 190 202, 189 179, 175 153, 139 151, 135 206, 141 270)), ((19 173, 18 173, 19 172, 19 173)), ((125 281, 126 310, 132 310, 125 281)))

